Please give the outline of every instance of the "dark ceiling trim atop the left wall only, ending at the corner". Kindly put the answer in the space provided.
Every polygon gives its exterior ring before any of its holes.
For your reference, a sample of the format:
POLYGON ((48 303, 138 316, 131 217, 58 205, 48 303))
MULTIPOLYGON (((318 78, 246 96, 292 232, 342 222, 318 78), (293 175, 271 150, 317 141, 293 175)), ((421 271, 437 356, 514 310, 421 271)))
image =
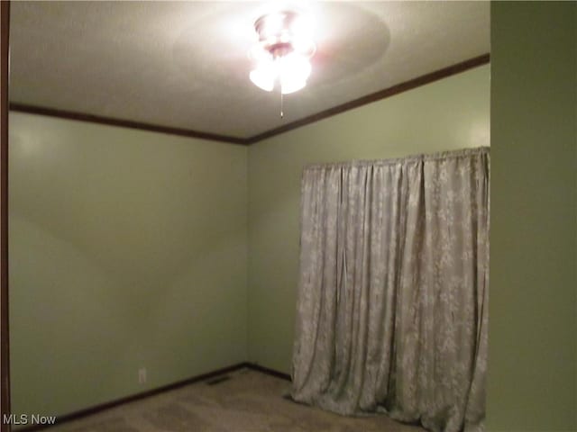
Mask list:
POLYGON ((159 124, 145 123, 142 121, 132 121, 123 119, 114 119, 101 115, 87 114, 84 112, 74 112, 48 108, 45 106, 29 105, 26 103, 10 103, 10 110, 16 112, 26 112, 29 114, 48 115, 50 117, 59 117, 61 119, 89 121, 91 123, 106 124, 108 126, 119 126, 121 128, 150 130, 152 132, 168 133, 169 135, 179 135, 188 138, 209 139, 212 141, 227 142, 230 144, 246 145, 246 139, 230 137, 228 135, 219 135, 210 132, 201 132, 198 130, 172 128, 170 126, 161 126, 159 124))

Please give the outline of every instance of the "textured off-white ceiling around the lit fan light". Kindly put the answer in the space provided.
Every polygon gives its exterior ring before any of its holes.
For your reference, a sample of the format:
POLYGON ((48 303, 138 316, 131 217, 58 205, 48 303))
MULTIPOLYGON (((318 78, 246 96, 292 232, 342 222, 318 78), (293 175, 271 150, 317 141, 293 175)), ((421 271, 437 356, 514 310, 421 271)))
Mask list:
POLYGON ((284 119, 248 78, 264 2, 12 2, 10 99, 249 138, 490 51, 488 2, 305 7, 317 52, 284 119))

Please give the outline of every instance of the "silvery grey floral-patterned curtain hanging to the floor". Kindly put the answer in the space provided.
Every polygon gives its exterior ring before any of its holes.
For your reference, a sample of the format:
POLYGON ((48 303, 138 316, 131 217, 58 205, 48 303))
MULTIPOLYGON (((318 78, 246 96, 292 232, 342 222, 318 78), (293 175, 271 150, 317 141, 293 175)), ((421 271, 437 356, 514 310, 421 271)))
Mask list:
POLYGON ((292 398, 482 430, 489 148, 307 166, 292 398))

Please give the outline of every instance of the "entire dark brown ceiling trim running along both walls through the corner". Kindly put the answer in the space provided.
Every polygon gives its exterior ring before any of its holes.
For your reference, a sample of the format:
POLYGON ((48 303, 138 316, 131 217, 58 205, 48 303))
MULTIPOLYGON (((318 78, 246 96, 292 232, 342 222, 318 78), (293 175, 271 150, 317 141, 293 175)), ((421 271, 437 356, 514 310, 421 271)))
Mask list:
POLYGON ((275 135, 288 132, 289 130, 295 130, 303 126, 307 126, 307 124, 314 123, 315 121, 324 120, 328 117, 332 117, 333 115, 353 110, 354 108, 358 108, 367 103, 377 102, 380 101, 381 99, 385 99, 395 94, 407 92, 408 90, 412 90, 418 86, 426 85, 439 79, 446 78, 447 76, 460 74, 465 70, 471 69, 473 67, 479 67, 489 62, 490 62, 490 54, 483 54, 482 56, 479 57, 470 58, 461 63, 457 63, 449 67, 444 67, 442 69, 435 70, 435 72, 431 72, 423 76, 417 76, 417 78, 410 79, 398 85, 393 85, 392 87, 385 88, 384 90, 380 90, 379 92, 367 94, 358 99, 354 99, 353 101, 334 106, 333 108, 329 108, 328 110, 322 112, 317 112, 316 114, 309 115, 308 117, 305 117, 298 121, 292 121, 288 124, 280 126, 279 128, 266 130, 262 133, 253 135, 252 137, 249 138, 232 137, 229 135, 218 135, 215 133, 207 133, 198 130, 172 128, 168 126, 149 124, 141 121, 114 119, 111 117, 103 117, 99 115, 87 114, 82 112, 58 110, 25 103, 12 102, 10 103, 10 109, 17 112, 28 112, 31 114, 48 115, 51 117, 60 117, 69 120, 91 121, 95 123, 107 124, 111 126, 120 126, 124 128, 151 130, 154 132, 168 133, 171 135, 180 135, 188 138, 211 139, 215 141, 228 142, 231 144, 250 145, 254 144, 255 142, 259 142, 262 139, 274 137, 275 135))

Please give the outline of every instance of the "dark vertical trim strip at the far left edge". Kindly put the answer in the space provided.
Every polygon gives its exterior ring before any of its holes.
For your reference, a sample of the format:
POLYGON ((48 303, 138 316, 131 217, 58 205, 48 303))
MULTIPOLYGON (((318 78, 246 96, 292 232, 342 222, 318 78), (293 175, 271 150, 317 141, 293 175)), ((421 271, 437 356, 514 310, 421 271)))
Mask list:
MULTIPOLYGON (((10 36, 10 2, 0 2, 0 410, 10 413, 10 344, 8 338, 8 56, 10 36)), ((0 421, 0 430, 8 432, 10 425, 0 421)))

